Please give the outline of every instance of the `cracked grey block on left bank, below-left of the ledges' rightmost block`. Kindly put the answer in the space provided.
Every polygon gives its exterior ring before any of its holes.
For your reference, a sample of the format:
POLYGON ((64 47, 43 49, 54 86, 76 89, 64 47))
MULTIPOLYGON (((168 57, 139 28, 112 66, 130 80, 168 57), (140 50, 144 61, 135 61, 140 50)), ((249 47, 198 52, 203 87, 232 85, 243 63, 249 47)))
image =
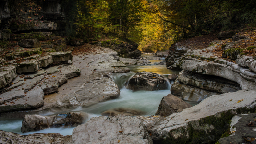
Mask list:
POLYGON ((43 89, 44 94, 47 95, 53 92, 58 92, 58 88, 67 81, 67 76, 56 73, 45 76, 37 85, 40 86, 43 89))

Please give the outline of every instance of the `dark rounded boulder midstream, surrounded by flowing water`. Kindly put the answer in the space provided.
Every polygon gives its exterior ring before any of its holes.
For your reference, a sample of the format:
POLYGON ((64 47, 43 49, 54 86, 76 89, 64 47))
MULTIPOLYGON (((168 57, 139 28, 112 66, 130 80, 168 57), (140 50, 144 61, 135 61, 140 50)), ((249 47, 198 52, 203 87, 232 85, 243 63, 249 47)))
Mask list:
POLYGON ((137 72, 128 80, 128 89, 131 90, 165 90, 168 88, 168 80, 157 73, 137 72))

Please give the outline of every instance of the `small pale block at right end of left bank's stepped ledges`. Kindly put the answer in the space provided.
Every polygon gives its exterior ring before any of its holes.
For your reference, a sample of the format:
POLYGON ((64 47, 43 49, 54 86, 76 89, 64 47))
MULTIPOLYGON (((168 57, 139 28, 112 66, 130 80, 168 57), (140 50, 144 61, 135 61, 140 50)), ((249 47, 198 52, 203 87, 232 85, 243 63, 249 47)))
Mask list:
POLYGON ((68 77, 68 79, 80 76, 81 70, 79 70, 76 66, 68 65, 68 66, 58 66, 57 67, 60 70, 60 74, 64 74, 68 77))

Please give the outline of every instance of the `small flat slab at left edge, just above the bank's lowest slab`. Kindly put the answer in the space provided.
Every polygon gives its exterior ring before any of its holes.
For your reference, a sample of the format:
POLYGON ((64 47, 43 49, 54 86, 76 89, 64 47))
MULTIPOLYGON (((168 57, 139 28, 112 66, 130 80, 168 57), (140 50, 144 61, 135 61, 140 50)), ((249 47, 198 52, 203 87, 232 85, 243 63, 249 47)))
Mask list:
POLYGON ((24 97, 24 91, 10 91, 0 95, 0 99, 3 99, 4 102, 12 101, 13 99, 24 97))

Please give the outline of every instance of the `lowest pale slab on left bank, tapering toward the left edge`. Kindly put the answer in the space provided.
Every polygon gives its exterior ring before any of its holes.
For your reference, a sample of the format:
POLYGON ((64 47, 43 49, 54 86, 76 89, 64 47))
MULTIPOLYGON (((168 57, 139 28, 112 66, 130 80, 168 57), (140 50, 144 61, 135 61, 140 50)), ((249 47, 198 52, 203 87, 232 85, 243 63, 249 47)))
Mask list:
POLYGON ((0 112, 38 108, 44 105, 43 98, 43 90, 41 88, 34 88, 28 91, 23 98, 13 99, 12 101, 1 104, 0 112))

